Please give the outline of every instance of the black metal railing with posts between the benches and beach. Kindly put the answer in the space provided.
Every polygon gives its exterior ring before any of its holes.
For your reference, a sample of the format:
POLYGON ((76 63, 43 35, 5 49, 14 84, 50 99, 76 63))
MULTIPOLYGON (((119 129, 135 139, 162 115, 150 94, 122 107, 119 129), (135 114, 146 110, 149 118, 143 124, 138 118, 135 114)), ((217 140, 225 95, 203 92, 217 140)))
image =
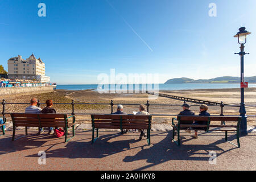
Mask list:
MULTIPOLYGON (((185 103, 186 101, 184 101, 185 103)), ((1 105, 2 105, 2 112, 1 114, 3 115, 3 117, 5 116, 5 114, 11 114, 11 113, 8 113, 6 112, 6 105, 13 105, 13 104, 16 104, 16 105, 29 105, 30 103, 16 103, 16 102, 6 102, 5 100, 2 100, 1 102, 1 105)), ((140 104, 122 104, 122 103, 118 103, 118 104, 121 104, 121 105, 140 105, 140 104)), ((87 114, 95 114, 95 113, 76 113, 75 112, 75 105, 110 105, 110 108, 111 108, 111 113, 113 113, 113 106, 114 105, 118 105, 118 104, 114 104, 114 101, 111 100, 110 103, 83 103, 83 102, 79 102, 79 103, 75 103, 74 100, 72 100, 71 103, 54 103, 54 105, 71 105, 72 106, 72 113, 67 113, 67 114, 72 114, 72 115, 75 115, 75 114, 80 114, 80 115, 87 115, 87 114)), ((40 103, 40 101, 38 100, 38 106, 40 105, 44 105, 42 103, 40 103)), ((149 101, 146 102, 146 107, 147 107, 147 112, 149 113, 150 111, 150 106, 180 106, 180 104, 150 104, 149 101)), ((200 104, 195 104, 195 105, 191 105, 191 106, 200 106, 200 104)), ((214 105, 208 105, 209 107, 211 106, 217 106, 216 104, 214 105)), ((220 102, 220 115, 223 116, 224 115, 224 106, 230 106, 230 107, 240 107, 240 105, 224 105, 223 102, 220 102)), ((256 107, 256 105, 246 105, 246 107, 256 107)), ((175 116, 176 114, 152 114, 152 115, 158 115, 158 116, 175 116)), ((237 115, 233 115, 233 116, 237 116, 237 115)), ((247 115, 247 117, 256 117, 256 115, 247 115)))

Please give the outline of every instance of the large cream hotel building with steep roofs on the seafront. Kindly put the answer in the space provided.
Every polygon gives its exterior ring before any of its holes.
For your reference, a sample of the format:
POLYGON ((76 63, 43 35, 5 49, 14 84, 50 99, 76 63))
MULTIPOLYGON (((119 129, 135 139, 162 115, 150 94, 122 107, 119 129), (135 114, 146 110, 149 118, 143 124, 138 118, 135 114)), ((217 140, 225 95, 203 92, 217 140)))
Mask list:
POLYGON ((36 59, 33 54, 26 60, 20 55, 11 57, 8 60, 8 78, 50 82, 50 77, 46 76, 46 66, 43 61, 40 58, 36 59))

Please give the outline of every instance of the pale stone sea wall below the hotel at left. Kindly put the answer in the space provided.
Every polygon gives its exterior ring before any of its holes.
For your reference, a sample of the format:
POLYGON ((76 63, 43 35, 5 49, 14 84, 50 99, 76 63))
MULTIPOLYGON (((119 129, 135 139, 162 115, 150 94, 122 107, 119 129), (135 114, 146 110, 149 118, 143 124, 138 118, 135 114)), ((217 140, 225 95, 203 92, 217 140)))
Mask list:
POLYGON ((27 86, 17 88, 0 88, 0 96, 16 94, 33 94, 53 92, 53 86, 27 86))

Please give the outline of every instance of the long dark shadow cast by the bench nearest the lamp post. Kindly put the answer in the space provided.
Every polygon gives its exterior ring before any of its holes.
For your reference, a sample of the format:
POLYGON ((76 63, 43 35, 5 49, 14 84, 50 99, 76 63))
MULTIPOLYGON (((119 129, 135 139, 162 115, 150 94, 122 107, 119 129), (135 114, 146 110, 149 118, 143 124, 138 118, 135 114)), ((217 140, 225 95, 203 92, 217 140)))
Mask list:
MULTIPOLYGON (((225 143, 225 140, 223 138, 220 138, 216 142, 209 144, 184 144, 185 142, 193 138, 186 139, 185 137, 181 137, 181 146, 176 146, 176 144, 172 142, 171 138, 172 130, 168 131, 166 138, 161 140, 159 143, 155 143, 152 147, 139 151, 134 156, 126 156, 125 159, 123 159, 123 162, 129 163, 136 160, 146 160, 147 163, 151 163, 147 166, 135 169, 135 171, 141 171, 143 169, 165 163, 169 160, 208 161, 210 158, 210 151, 216 151, 217 156, 220 156, 225 152, 236 149, 235 147, 232 147, 229 150, 225 151, 222 148, 218 147, 217 144, 225 143)), ((228 139, 233 140, 236 139, 236 137, 230 136, 228 137, 228 139)))

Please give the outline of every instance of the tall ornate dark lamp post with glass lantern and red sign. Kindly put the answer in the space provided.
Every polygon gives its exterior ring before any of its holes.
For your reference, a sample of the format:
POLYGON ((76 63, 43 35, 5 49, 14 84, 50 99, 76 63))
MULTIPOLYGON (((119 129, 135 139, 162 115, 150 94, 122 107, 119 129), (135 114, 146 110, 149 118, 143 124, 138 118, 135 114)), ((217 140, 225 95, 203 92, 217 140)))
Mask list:
POLYGON ((251 34, 250 32, 245 30, 245 27, 239 28, 239 32, 234 36, 235 38, 238 38, 238 43, 241 44, 240 53, 235 53, 240 55, 241 57, 241 104, 240 104, 240 115, 242 117, 241 119, 241 125, 240 125, 240 131, 241 135, 247 135, 247 117, 246 117, 246 110, 245 110, 245 90, 244 87, 242 86, 245 81, 244 81, 244 74, 243 74, 243 56, 249 53, 245 53, 245 43, 246 43, 246 36, 251 34))

